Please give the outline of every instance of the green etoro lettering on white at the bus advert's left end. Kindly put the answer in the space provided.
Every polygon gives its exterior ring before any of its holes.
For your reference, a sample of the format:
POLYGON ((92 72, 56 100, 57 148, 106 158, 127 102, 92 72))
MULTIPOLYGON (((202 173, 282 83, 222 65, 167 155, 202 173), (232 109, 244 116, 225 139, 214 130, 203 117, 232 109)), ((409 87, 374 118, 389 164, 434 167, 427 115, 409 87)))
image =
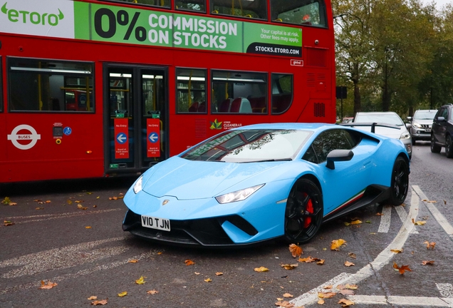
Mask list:
POLYGON ((23 24, 31 22, 31 24, 36 25, 42 24, 43 26, 45 25, 57 26, 58 21, 61 21, 65 17, 60 9, 58 9, 58 15, 49 13, 41 14, 36 11, 24 11, 24 10, 18 11, 15 9, 7 9, 6 4, 8 4, 8 2, 5 2, 5 4, 1 6, 1 13, 6 14, 6 16, 8 16, 9 21, 11 22, 21 21, 23 24))

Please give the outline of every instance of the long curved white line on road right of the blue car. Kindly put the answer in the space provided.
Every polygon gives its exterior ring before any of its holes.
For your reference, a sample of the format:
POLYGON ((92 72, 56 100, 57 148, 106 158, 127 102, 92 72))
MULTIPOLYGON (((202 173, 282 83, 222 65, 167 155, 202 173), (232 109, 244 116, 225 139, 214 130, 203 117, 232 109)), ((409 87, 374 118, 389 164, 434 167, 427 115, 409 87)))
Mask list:
MULTIPOLYGON (((388 245, 385 250, 377 255, 375 260, 371 262, 369 265, 366 265, 362 269, 360 269, 355 274, 347 274, 341 273, 338 276, 334 277, 331 280, 335 280, 336 282, 333 284, 336 287, 338 284, 357 284, 358 282, 362 281, 370 277, 371 275, 375 274, 375 272, 379 271, 384 265, 387 265, 388 262, 395 256, 395 253, 391 252, 390 250, 400 250, 402 246, 405 244, 407 238, 410 235, 410 232, 414 229, 414 224, 412 223, 412 219, 416 220, 418 215, 418 205, 419 205, 419 197, 415 193, 412 193, 412 197, 410 200, 410 209, 409 214, 405 222, 402 224, 400 231, 396 235, 395 239, 388 245)), ((294 306, 303 306, 307 304, 312 304, 318 300, 318 289, 321 288, 325 284, 321 284, 321 286, 312 289, 311 291, 301 295, 300 297, 296 297, 292 299, 290 302, 294 304, 294 306)))

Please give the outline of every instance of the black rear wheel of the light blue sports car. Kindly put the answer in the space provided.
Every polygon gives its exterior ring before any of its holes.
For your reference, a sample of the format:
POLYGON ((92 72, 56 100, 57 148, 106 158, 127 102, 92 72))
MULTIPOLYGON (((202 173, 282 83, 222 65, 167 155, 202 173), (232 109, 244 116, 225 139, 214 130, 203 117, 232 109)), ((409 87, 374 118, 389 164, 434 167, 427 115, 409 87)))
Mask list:
POLYGON ((409 165, 402 157, 398 157, 393 164, 392 180, 390 183, 390 197, 387 204, 400 205, 405 201, 409 189, 409 165))

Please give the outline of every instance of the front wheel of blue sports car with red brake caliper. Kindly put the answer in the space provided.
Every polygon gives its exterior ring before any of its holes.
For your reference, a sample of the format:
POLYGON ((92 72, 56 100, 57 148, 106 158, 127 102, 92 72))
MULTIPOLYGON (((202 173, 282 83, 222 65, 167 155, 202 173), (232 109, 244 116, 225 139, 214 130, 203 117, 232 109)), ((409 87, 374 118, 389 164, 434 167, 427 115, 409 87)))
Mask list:
POLYGON ((323 222, 323 195, 311 180, 298 180, 288 196, 285 238, 291 243, 311 240, 323 222))

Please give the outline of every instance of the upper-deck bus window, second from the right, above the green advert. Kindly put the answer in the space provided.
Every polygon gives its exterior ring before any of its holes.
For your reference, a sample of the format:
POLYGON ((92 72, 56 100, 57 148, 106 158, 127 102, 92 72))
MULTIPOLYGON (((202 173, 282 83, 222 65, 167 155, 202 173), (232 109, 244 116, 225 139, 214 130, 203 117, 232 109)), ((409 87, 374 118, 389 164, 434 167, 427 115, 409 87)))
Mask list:
POLYGON ((211 0, 210 10, 212 14, 267 19, 266 8, 266 0, 211 0))

